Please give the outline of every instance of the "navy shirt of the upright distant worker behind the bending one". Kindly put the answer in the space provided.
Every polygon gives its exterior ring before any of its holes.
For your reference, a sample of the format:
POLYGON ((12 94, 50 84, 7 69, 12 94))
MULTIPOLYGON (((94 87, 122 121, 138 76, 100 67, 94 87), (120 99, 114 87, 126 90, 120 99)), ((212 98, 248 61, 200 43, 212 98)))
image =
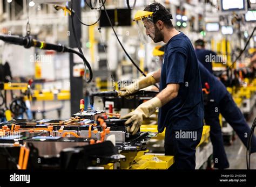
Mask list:
POLYGON ((204 67, 206 67, 206 69, 208 71, 210 71, 211 73, 213 73, 212 70, 212 61, 213 61, 213 56, 215 56, 215 58, 217 57, 217 54, 213 51, 209 51, 206 49, 196 49, 195 50, 196 55, 197 55, 197 59, 204 65, 204 67), (206 59, 208 60, 208 62, 206 62, 206 59))

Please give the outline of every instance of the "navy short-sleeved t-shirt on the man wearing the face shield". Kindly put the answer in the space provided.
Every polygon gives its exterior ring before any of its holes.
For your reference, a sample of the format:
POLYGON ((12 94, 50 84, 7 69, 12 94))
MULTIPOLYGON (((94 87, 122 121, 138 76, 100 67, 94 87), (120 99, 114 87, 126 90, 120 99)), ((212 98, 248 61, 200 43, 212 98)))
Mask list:
POLYGON ((160 91, 167 84, 179 84, 178 96, 158 113, 158 131, 173 125, 173 130, 196 130, 203 126, 204 103, 198 60, 185 34, 174 36, 165 47, 160 91))

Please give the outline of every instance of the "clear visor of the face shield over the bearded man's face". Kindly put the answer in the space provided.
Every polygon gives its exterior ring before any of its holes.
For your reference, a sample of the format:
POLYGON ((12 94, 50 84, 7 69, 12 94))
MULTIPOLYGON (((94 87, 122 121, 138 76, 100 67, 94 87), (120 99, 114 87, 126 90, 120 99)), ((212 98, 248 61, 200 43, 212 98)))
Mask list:
POLYGON ((136 20, 140 40, 143 44, 149 44, 155 37, 154 23, 152 17, 136 20))

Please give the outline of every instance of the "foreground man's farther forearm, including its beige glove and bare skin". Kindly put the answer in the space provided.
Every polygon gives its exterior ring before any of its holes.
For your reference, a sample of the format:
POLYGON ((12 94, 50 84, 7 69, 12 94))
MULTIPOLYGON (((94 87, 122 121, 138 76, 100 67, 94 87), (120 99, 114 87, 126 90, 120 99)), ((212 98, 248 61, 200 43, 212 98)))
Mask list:
POLYGON ((128 96, 132 93, 139 91, 140 89, 147 88, 157 82, 160 82, 161 70, 154 71, 150 73, 146 77, 139 78, 139 80, 135 81, 133 84, 124 87, 119 92, 120 96, 128 96))

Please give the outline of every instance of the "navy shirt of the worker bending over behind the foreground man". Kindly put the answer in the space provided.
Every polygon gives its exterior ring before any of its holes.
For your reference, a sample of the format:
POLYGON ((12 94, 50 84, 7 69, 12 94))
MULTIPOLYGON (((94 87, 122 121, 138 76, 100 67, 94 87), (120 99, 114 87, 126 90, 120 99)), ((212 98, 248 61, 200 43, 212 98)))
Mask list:
POLYGON ((227 93, 225 85, 219 81, 217 77, 211 74, 210 71, 208 71, 200 61, 198 61, 198 65, 201 75, 202 87, 205 88, 205 83, 207 82, 210 86, 209 98, 213 99, 214 102, 219 103, 227 93))

